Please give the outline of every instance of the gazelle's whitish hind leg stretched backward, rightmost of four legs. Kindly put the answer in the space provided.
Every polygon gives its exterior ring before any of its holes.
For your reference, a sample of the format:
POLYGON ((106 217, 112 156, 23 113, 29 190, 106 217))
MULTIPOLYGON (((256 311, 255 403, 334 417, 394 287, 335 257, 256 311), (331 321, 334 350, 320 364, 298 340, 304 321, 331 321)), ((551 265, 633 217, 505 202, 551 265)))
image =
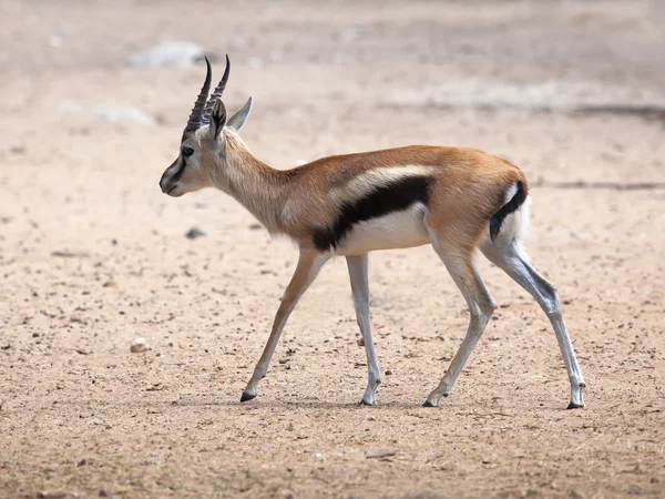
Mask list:
POLYGON ((559 348, 571 383, 571 401, 567 408, 584 407, 582 397, 582 388, 585 386, 584 377, 563 320, 556 286, 533 268, 526 252, 522 248, 520 242, 513 237, 509 241, 499 238, 495 243, 488 241, 481 246, 481 251, 490 262, 502 268, 520 286, 526 289, 548 315, 556 334, 559 348))

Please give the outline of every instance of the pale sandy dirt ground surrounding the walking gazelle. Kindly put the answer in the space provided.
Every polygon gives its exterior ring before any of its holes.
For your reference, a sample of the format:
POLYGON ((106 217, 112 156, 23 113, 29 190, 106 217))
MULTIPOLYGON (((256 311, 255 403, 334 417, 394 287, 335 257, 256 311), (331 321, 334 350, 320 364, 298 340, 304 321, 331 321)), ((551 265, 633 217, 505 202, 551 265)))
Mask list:
POLYGON ((665 497, 663 3, 0 1, 0 497, 665 497), (468 316, 430 247, 370 258, 378 406, 344 259, 241 405, 297 252, 218 192, 160 192, 204 70, 124 62, 167 40, 216 75, 228 52, 227 108, 254 98, 275 167, 412 143, 521 165, 586 407, 487 262, 501 307, 420 407, 468 316))

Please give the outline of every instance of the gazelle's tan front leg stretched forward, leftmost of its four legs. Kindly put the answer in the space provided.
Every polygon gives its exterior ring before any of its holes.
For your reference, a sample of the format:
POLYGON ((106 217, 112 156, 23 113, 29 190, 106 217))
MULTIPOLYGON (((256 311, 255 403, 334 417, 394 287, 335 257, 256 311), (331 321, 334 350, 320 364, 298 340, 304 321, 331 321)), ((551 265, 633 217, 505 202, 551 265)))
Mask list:
POLYGON ((300 299, 300 296, 303 296, 305 291, 307 291, 328 258, 329 255, 324 253, 308 248, 300 248, 300 256, 298 258, 296 272, 294 273, 290 283, 288 283, 286 291, 284 292, 282 303, 279 304, 279 308, 275 315, 275 320, 273 322, 270 337, 268 338, 268 343, 266 344, 264 352, 258 359, 256 367, 254 368, 252 379, 249 379, 249 383, 243 391, 243 396, 241 397, 242 403, 252 400, 254 397, 256 397, 258 381, 260 381, 260 379, 268 371, 270 359, 273 358, 273 354, 277 347, 277 342, 279 342, 282 330, 288 320, 288 316, 294 310, 298 299, 300 299))

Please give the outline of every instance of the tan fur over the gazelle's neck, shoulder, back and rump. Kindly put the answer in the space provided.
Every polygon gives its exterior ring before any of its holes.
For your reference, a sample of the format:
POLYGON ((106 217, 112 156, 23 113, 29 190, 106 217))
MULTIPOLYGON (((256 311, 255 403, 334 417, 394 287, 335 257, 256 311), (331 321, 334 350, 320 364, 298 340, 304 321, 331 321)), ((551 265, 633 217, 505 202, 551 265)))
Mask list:
POLYGON ((434 177, 428 223, 440 236, 471 251, 489 218, 504 204, 503 195, 524 173, 512 163, 474 149, 413 145, 324 157, 278 171, 257 160, 239 136, 226 131, 226 161, 206 164, 217 184, 249 210, 272 233, 311 246, 314 228, 332 224, 340 198, 380 185, 386 171, 405 166, 434 177), (382 174, 372 175, 372 172, 382 174))

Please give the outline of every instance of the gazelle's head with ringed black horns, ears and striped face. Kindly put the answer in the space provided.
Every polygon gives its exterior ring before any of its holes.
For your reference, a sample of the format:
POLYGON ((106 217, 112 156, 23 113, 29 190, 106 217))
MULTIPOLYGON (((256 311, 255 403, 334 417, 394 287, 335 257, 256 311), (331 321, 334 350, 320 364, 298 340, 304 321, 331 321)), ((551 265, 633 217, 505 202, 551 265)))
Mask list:
POLYGON ((226 120, 222 93, 231 71, 228 55, 224 75, 209 99, 212 69, 207 58, 205 63, 207 67, 205 82, 183 132, 178 156, 164 171, 160 180, 162 192, 173 197, 216 185, 215 179, 223 176, 218 173, 224 171, 226 163, 225 131, 239 131, 252 110, 252 98, 249 98, 237 113, 226 120))

